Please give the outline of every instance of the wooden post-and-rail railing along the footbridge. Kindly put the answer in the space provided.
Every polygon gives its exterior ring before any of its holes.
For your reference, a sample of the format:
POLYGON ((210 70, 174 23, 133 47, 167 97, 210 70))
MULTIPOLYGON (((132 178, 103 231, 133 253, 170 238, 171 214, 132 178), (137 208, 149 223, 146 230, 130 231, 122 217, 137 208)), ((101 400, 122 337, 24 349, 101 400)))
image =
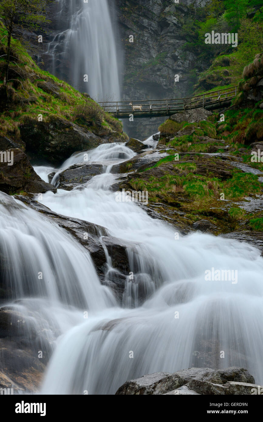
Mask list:
POLYGON ((195 95, 186 98, 170 98, 162 100, 126 100, 126 101, 108 101, 100 102, 99 104, 107 112, 118 114, 119 112, 132 113, 132 111, 179 111, 188 110, 191 108, 200 108, 223 101, 231 100, 236 96, 237 86, 230 88, 223 88, 216 91, 207 92, 204 94, 195 95))

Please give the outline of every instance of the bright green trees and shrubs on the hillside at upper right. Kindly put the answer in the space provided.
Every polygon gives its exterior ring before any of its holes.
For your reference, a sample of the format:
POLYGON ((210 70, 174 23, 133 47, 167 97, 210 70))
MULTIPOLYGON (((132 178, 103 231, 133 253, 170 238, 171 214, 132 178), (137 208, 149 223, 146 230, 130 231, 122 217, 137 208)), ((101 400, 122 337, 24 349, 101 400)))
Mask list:
MULTIPOLYGON (((211 66, 199 75, 195 93, 237 84, 242 70, 263 50, 263 4, 260 0, 211 0, 203 8, 188 7, 182 26, 185 51, 198 52, 211 66), (237 33, 238 45, 205 44, 205 34, 237 33)), ((196 74, 196 70, 192 70, 196 74)))

